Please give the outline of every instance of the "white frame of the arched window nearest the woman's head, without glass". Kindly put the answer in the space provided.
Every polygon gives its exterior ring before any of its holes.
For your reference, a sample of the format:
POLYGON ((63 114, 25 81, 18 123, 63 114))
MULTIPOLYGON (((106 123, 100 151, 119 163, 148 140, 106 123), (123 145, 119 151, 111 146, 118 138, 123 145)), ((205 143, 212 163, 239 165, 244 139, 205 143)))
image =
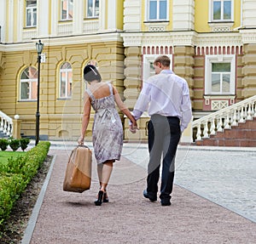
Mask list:
POLYGON ((72 98, 72 84, 73 84, 73 69, 72 69, 72 65, 69 62, 63 62, 60 65, 60 73, 59 73, 59 75, 60 75, 60 78, 59 78, 59 99, 70 99, 70 98, 72 98), (70 65, 71 68, 65 68, 65 69, 61 68, 65 64, 70 65), (64 96, 61 94, 61 84, 63 82, 63 81, 61 81, 62 73, 65 73, 65 94, 64 94, 64 96), (69 80, 69 73, 71 73, 71 82, 69 80), (70 85, 70 91, 68 91, 69 83, 71 84, 70 85), (68 95, 68 92, 70 92, 70 95, 68 95))

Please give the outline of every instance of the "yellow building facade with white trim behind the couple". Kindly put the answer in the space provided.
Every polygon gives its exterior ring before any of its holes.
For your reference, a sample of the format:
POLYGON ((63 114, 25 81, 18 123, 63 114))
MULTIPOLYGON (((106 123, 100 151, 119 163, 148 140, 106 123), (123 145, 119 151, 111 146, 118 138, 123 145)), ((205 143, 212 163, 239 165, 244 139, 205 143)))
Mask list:
MULTIPOLYGON (((35 133, 39 39, 42 139, 79 137, 89 62, 131 110, 160 54, 188 82, 194 119, 256 94, 252 0, 3 0, 0 9, 0 111, 20 116, 24 136, 35 133)), ((147 139, 147 113, 137 134, 122 119, 125 139, 147 139)))

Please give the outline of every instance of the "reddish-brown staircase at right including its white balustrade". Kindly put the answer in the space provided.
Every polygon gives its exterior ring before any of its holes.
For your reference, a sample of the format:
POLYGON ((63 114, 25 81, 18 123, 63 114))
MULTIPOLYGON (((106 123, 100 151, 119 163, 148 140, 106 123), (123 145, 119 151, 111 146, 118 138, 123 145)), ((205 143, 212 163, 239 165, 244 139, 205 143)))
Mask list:
POLYGON ((256 96, 192 122, 195 145, 256 147, 256 96))

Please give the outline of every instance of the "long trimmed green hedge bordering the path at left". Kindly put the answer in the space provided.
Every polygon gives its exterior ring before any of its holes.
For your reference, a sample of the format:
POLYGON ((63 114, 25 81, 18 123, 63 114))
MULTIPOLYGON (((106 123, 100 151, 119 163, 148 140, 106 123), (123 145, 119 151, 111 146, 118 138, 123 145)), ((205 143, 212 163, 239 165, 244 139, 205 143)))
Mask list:
POLYGON ((9 218, 15 201, 26 189, 26 185, 38 173, 49 151, 50 143, 39 142, 27 151, 24 156, 9 159, 8 163, 0 164, 0 227, 9 218))

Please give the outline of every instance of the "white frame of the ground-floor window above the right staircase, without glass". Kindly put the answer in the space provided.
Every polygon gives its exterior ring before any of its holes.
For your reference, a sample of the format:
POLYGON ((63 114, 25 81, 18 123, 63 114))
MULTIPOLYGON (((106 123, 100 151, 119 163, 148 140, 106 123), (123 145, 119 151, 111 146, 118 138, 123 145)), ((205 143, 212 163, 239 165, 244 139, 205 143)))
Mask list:
POLYGON ((206 55, 205 60, 205 94, 206 95, 234 95, 236 93, 236 55, 206 55), (212 92, 212 63, 230 63, 230 91, 212 92))

